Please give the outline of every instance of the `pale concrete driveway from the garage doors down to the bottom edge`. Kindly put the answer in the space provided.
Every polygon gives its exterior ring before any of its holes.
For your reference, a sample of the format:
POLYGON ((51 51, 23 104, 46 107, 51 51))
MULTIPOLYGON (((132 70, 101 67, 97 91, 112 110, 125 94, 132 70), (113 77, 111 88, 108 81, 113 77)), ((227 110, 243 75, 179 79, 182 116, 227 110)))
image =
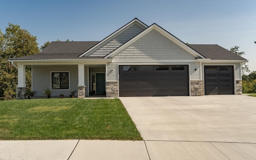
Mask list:
POLYGON ((256 98, 122 97, 150 159, 255 159, 256 98), (173 157, 175 155, 175 157, 173 157))

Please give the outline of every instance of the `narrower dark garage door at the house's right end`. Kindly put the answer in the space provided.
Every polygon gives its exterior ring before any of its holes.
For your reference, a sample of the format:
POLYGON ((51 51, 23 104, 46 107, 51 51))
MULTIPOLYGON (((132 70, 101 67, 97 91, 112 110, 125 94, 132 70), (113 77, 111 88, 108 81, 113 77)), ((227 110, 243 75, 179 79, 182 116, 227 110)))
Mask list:
POLYGON ((234 66, 204 66, 204 94, 234 94, 234 66))

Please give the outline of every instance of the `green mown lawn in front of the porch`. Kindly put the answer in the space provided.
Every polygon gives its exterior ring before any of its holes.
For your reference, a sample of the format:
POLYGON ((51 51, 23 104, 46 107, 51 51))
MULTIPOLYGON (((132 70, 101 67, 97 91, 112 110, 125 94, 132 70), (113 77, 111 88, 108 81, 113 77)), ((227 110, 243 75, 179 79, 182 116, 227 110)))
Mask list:
POLYGON ((0 140, 142 140, 119 99, 0 101, 0 140))

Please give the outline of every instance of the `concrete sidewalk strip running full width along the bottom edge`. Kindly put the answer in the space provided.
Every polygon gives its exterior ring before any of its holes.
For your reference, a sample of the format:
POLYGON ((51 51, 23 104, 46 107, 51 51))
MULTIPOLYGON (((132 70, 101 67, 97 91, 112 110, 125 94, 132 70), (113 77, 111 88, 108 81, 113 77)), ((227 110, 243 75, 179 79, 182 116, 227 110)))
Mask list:
POLYGON ((255 160, 256 144, 181 141, 6 140, 0 160, 255 160))

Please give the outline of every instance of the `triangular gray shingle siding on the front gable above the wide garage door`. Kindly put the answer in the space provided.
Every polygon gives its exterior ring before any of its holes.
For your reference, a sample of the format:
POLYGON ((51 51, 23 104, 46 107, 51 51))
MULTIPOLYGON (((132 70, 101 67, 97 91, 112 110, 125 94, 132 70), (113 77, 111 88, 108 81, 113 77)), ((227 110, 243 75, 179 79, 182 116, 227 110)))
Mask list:
POLYGON ((114 60, 194 60, 186 50, 152 30, 122 52, 114 60))

